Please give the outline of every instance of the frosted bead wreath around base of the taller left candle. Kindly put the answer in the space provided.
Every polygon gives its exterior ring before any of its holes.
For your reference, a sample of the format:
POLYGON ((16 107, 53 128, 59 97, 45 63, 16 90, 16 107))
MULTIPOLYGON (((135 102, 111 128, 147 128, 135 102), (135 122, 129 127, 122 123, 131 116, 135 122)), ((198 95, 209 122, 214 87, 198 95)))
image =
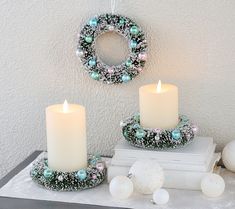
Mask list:
POLYGON ((48 167, 47 158, 41 158, 33 165, 30 176, 49 190, 77 191, 98 186, 105 180, 106 172, 100 156, 90 156, 88 167, 74 172, 53 171, 48 167))

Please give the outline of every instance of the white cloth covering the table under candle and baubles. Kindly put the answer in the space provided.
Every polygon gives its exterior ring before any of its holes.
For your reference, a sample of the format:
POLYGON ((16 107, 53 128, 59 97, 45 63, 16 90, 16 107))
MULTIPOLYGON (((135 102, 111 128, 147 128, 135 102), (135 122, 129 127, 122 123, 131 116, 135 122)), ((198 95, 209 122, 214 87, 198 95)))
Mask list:
POLYGON ((170 201, 164 206, 157 206, 151 203, 151 195, 137 193, 128 200, 115 200, 109 194, 107 183, 80 192, 49 191, 31 180, 29 176, 31 166, 32 164, 27 166, 3 186, 0 189, 0 196, 136 209, 235 209, 235 173, 225 169, 221 175, 226 182, 226 189, 221 197, 207 198, 200 191, 168 189, 170 201))

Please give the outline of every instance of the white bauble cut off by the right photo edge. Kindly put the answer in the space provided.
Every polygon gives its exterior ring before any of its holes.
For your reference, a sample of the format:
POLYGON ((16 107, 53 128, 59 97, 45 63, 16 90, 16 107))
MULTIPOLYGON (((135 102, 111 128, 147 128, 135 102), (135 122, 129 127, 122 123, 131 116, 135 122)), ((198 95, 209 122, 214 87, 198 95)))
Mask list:
POLYGON ((229 142, 223 149, 222 159, 225 167, 235 172, 235 140, 229 142))

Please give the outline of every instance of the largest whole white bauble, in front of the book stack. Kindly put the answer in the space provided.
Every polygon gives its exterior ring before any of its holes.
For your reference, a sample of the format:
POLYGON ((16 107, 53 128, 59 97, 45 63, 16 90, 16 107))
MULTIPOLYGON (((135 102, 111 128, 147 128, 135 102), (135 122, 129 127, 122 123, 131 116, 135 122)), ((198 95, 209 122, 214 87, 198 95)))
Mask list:
POLYGON ((153 194, 164 182, 164 173, 156 160, 138 160, 129 171, 134 188, 141 194, 153 194))

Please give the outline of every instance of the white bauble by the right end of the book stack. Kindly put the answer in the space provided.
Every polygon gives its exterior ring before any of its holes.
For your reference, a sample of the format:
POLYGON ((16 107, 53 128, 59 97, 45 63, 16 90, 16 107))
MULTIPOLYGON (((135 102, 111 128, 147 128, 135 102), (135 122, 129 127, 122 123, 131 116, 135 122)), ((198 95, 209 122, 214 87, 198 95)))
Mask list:
POLYGON ((215 173, 207 174, 201 181, 201 189, 208 197, 219 197, 225 189, 224 179, 215 173))

